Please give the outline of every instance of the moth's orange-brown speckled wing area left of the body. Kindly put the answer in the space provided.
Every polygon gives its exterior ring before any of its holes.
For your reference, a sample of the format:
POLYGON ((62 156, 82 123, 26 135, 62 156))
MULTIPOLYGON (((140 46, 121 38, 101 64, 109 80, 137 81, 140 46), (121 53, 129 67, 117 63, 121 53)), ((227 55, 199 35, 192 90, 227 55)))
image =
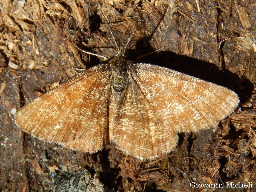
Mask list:
POLYGON ((98 151, 109 140, 109 79, 106 65, 89 68, 21 108, 16 124, 38 139, 98 151))

